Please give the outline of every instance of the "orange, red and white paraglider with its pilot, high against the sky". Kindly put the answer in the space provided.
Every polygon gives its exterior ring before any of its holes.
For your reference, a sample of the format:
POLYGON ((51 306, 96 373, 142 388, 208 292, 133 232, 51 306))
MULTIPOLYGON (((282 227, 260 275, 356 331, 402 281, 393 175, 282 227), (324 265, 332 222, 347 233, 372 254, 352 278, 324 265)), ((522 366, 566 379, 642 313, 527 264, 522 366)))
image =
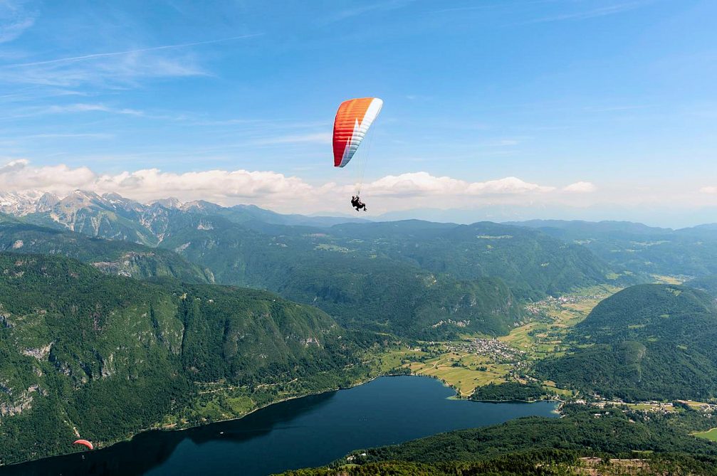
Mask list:
MULTIPOLYGON (((336 112, 333 122, 333 166, 343 168, 356 156, 361 142, 369 132, 371 124, 381 112, 384 102, 378 97, 360 97, 343 101, 336 112)), ((351 206, 360 211, 366 211, 366 204, 361 201, 361 184, 364 180, 366 156, 361 163, 354 164, 358 178, 356 180, 356 195, 351 197, 351 206)))

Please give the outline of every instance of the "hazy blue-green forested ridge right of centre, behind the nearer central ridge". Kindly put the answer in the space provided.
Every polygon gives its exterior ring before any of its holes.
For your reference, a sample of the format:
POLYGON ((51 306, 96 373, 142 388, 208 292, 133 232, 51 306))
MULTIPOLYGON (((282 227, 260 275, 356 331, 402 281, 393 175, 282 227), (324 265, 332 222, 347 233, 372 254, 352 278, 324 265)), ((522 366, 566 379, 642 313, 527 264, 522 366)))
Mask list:
POLYGON ((343 224, 332 233, 364 239, 371 249, 459 280, 500 277, 521 298, 557 295, 608 281, 609 267, 578 245, 491 222, 470 225, 407 220, 343 224))

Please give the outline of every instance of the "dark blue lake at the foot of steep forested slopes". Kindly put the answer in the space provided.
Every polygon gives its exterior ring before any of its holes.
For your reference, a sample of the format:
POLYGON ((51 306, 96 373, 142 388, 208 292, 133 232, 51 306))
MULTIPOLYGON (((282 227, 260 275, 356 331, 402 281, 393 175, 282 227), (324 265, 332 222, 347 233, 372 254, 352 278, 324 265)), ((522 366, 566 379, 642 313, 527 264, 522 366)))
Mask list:
POLYGON ((264 476, 326 465, 353 449, 528 415, 556 417, 554 402, 494 404, 449 399, 453 395, 435 379, 381 377, 283 401, 231 422, 146 432, 106 449, 0 468, 0 474, 264 476))

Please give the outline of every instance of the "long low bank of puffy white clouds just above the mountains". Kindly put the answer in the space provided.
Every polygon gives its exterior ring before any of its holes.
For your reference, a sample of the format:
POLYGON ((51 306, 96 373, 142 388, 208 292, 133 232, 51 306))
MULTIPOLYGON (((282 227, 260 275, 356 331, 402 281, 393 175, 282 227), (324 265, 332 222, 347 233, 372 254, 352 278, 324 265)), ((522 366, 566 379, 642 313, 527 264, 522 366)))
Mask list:
MULTIPOLYGON (((273 171, 175 173, 147 168, 97 173, 84 166, 33 166, 25 159, 11 160, 0 166, 0 190, 67 194, 74 189, 100 194, 116 192, 139 201, 176 196, 184 201, 204 199, 222 205, 256 204, 279 211, 303 213, 344 209, 344 201, 355 191, 353 184, 346 182, 315 185, 298 176, 273 171)), ((374 199, 375 209, 385 210, 417 206, 460 207, 468 203, 528 204, 559 200, 561 191, 554 186, 533 184, 516 177, 470 182, 422 171, 370 181, 364 184, 361 194, 374 199)))

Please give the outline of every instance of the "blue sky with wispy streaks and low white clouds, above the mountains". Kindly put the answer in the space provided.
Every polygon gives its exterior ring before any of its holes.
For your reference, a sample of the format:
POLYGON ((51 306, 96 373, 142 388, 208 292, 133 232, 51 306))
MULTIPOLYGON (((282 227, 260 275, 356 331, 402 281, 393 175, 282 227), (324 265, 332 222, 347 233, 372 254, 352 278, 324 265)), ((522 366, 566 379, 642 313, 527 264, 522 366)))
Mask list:
POLYGON ((333 115, 377 96, 377 211, 695 214, 717 205, 715 18, 711 0, 0 0, 0 188, 338 211, 333 115))

